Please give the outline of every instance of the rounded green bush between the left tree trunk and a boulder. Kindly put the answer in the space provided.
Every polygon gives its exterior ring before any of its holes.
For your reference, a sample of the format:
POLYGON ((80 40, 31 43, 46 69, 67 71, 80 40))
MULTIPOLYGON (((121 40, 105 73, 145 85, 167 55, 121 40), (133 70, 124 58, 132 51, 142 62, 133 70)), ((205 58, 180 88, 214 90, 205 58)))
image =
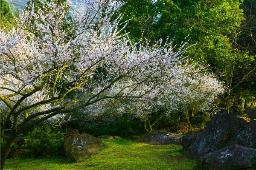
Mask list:
POLYGON ((64 134, 52 130, 49 126, 44 128, 36 127, 24 138, 25 144, 23 144, 22 148, 23 156, 25 157, 46 157, 63 155, 64 153, 64 134))

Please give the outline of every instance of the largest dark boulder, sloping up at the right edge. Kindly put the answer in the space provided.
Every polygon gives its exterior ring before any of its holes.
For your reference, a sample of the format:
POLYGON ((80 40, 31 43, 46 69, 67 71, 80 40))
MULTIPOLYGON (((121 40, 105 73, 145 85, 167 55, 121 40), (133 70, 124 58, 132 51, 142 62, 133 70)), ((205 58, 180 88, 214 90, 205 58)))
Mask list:
POLYGON ((246 122, 233 114, 220 113, 198 134, 189 151, 197 161, 207 153, 233 144, 255 148, 256 121, 246 122))

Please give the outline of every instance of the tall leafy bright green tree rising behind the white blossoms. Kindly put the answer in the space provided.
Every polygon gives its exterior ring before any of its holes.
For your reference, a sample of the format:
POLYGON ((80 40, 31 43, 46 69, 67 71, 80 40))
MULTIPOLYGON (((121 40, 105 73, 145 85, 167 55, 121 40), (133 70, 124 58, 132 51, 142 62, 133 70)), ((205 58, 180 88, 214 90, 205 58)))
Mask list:
POLYGON ((131 20, 125 31, 130 32, 133 40, 137 36, 151 41, 175 37, 174 42, 180 44, 188 36, 189 44, 195 45, 187 55, 196 63, 210 65, 212 71, 226 82, 227 111, 232 105, 230 102, 247 90, 239 87, 253 75, 256 66, 253 54, 243 50, 239 43, 246 17, 241 6, 252 7, 254 0, 244 3, 241 0, 148 0, 146 6, 138 9, 137 1, 123 1, 125 6, 120 11, 125 11, 125 20, 131 20), (143 18, 147 24, 140 24, 143 18), (140 30, 146 30, 147 36, 140 30))

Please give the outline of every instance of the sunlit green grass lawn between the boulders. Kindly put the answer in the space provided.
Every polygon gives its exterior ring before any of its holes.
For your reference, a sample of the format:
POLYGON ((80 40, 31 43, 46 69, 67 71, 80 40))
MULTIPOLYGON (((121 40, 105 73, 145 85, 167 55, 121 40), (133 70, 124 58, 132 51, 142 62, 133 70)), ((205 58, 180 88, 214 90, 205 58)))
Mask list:
POLYGON ((64 158, 7 159, 10 170, 199 170, 186 158, 181 146, 150 145, 134 140, 103 139, 104 150, 84 161, 67 163, 64 158))

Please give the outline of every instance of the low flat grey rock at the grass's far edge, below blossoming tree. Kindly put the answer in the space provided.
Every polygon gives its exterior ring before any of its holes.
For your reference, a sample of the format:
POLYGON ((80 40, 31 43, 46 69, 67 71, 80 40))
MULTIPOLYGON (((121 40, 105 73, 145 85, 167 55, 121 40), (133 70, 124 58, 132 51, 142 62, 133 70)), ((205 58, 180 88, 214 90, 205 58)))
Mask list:
POLYGON ((148 144, 179 144, 180 137, 181 135, 176 133, 149 131, 137 139, 137 142, 148 144))

